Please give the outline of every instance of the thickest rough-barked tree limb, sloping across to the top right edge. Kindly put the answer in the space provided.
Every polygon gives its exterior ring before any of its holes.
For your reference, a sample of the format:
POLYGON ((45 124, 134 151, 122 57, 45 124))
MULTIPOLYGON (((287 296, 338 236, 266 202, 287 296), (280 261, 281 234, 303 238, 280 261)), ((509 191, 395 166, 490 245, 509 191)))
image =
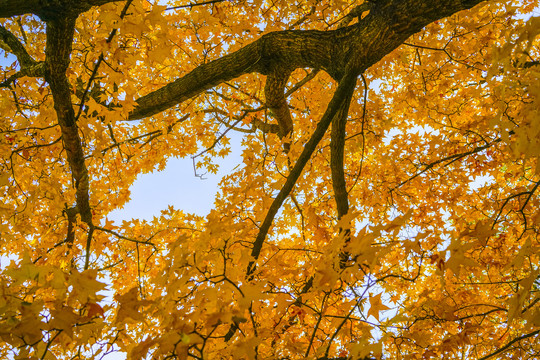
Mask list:
POLYGON ((137 100, 137 120, 159 113, 224 81, 246 73, 268 75, 276 67, 319 68, 339 80, 349 62, 359 74, 427 24, 473 7, 483 0, 379 0, 358 24, 333 31, 279 31, 137 100))

